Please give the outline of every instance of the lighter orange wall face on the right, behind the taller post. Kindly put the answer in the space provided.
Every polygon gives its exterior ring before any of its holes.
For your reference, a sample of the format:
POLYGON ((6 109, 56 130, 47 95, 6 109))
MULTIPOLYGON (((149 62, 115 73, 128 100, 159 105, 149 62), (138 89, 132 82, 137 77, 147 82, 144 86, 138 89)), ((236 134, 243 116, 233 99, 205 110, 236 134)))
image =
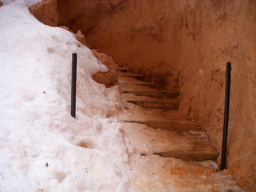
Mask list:
POLYGON ((221 151, 226 62, 232 63, 227 166, 239 185, 256 191, 256 1, 189 2, 177 65, 181 108, 221 151))

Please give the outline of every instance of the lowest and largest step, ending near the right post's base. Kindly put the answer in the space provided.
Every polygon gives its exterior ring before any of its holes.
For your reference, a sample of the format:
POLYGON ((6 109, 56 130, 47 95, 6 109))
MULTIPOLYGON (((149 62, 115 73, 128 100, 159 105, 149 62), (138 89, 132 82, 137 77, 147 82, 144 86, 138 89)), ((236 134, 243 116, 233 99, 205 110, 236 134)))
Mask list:
POLYGON ((146 146, 153 154, 165 158, 180 158, 185 161, 218 158, 218 151, 212 146, 204 131, 154 130, 135 123, 124 123, 122 129, 132 146, 137 146, 139 149, 146 146))

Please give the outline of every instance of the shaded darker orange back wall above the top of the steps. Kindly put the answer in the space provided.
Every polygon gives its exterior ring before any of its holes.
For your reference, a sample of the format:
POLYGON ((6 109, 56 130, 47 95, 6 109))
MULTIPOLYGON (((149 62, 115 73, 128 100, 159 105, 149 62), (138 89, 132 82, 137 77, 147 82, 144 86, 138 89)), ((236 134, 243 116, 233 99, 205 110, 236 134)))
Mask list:
POLYGON ((157 76, 160 82, 171 76, 171 82, 176 80, 172 86, 177 87, 178 73, 170 65, 177 63, 180 51, 182 17, 177 16, 177 3, 62 0, 58 8, 59 13, 67 12, 60 14, 59 24, 82 30, 90 48, 113 56, 119 66, 157 76))

